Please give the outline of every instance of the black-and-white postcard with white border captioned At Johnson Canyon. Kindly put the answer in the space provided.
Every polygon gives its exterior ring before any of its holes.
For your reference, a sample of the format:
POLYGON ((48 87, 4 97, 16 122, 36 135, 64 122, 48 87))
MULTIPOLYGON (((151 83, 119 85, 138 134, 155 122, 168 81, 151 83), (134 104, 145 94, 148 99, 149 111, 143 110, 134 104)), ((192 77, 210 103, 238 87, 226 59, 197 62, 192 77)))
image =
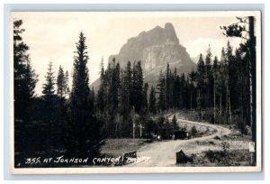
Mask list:
POLYGON ((259 11, 12 12, 9 33, 12 173, 261 170, 259 11))

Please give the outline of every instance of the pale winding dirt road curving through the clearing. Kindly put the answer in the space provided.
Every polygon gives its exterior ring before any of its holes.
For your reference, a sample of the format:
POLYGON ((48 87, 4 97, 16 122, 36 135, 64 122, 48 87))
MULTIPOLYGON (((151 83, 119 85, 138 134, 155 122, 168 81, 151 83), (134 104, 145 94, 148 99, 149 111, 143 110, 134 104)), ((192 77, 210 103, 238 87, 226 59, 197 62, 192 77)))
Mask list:
MULTIPOLYGON (((170 116, 172 118, 172 116, 170 116)), ((137 156, 140 161, 128 165, 129 167, 146 167, 146 166, 175 166, 175 152, 183 150, 186 154, 197 153, 211 150, 220 149, 215 145, 198 145, 198 141, 209 141, 215 136, 222 136, 229 134, 230 130, 216 124, 203 124, 199 122, 187 121, 177 118, 177 122, 184 122, 188 124, 197 124, 202 126, 208 126, 215 129, 217 132, 207 136, 197 137, 189 140, 171 140, 157 143, 150 143, 141 147, 137 156)))

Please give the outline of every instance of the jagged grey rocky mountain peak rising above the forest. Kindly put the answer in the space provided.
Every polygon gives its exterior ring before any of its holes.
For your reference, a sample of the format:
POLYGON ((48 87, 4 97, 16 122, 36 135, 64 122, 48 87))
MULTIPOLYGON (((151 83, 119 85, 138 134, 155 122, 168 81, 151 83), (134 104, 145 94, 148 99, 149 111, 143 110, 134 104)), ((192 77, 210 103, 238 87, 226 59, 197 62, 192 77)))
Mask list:
POLYGON ((179 43, 172 23, 166 23, 164 28, 157 26, 148 32, 140 32, 137 37, 130 38, 117 55, 110 56, 109 61, 113 58, 121 67, 125 67, 129 60, 131 63, 140 60, 145 82, 150 85, 157 84, 159 71, 165 71, 166 63, 171 69, 176 68, 178 74, 195 68, 193 60, 179 43))

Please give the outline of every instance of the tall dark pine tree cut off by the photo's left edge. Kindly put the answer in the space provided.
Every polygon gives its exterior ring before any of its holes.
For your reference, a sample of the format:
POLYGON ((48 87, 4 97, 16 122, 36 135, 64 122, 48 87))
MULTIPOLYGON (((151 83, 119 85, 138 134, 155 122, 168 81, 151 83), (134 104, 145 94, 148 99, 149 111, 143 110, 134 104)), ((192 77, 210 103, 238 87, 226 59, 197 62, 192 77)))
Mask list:
POLYGON ((26 152, 27 130, 31 124, 32 100, 38 81, 31 58, 27 53, 29 47, 23 42, 22 20, 14 21, 14 151, 26 152))

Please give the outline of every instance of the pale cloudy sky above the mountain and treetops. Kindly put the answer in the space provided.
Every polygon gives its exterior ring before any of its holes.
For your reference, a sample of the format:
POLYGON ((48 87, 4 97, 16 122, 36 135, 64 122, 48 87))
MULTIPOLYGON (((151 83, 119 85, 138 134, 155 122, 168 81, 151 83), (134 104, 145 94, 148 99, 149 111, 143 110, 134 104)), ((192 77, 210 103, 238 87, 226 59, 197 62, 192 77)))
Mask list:
MULTIPOLYGON (((23 41, 30 47, 32 67, 39 74, 37 95, 41 95, 50 60, 53 62, 55 76, 60 65, 69 74, 72 73, 79 32, 84 32, 86 37, 90 83, 99 78, 102 58, 106 66, 108 57, 119 53, 129 38, 157 25, 164 27, 165 23, 173 23, 180 44, 191 57, 197 57, 200 53, 205 55, 210 45, 212 54, 220 58, 221 48, 226 47, 227 41, 231 42, 234 49, 241 41, 227 38, 220 30, 220 25, 236 22, 232 14, 13 13, 11 23, 16 19, 23 20, 23 41)), ((71 85, 71 78, 69 80, 71 85)))

